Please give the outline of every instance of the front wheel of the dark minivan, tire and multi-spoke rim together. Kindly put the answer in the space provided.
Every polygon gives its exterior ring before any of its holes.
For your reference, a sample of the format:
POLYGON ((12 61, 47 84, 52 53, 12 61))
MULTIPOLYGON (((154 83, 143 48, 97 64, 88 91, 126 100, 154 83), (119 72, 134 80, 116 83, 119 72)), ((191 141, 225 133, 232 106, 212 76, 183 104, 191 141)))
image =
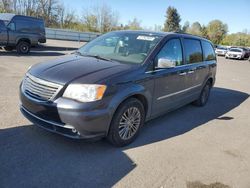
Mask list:
POLYGON ((117 147, 133 142, 145 121, 143 104, 130 98, 124 101, 115 112, 108 133, 108 140, 117 147))

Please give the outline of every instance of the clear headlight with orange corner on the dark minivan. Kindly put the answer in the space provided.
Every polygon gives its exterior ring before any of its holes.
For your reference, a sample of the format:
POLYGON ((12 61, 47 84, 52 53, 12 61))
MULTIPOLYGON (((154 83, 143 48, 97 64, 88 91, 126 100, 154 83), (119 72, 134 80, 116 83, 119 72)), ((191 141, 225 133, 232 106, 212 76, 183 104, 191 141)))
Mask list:
POLYGON ((101 100, 107 86, 97 84, 70 84, 63 97, 75 99, 80 102, 92 102, 101 100))

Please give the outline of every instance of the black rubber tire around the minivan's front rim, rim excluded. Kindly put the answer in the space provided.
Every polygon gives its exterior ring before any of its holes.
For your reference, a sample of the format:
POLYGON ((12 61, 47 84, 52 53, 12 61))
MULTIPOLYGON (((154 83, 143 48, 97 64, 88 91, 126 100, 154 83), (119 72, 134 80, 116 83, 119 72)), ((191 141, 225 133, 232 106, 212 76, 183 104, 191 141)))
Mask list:
POLYGON ((124 101, 117 109, 117 111, 115 112, 111 125, 110 125, 110 129, 109 129, 109 134, 108 134, 108 140, 115 146, 118 147, 122 147, 122 146, 126 146, 128 144, 130 144, 131 142, 133 142, 136 137, 139 135, 140 129, 143 126, 145 121, 145 110, 144 110, 144 106, 143 104, 135 99, 135 98, 130 98, 126 101, 124 101), (123 115, 123 113, 131 107, 136 107, 139 109, 140 113, 141 113, 141 122, 140 125, 137 129, 137 132, 134 134, 134 136, 132 136, 130 139, 128 140, 123 140, 121 139, 120 135, 119 135, 119 122, 120 119, 123 115))

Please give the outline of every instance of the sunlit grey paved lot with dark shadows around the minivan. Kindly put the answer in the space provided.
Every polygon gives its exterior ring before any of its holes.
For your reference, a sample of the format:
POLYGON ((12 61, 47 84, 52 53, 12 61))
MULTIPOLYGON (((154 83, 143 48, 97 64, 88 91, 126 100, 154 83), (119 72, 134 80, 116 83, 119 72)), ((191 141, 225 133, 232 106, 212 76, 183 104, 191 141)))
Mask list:
POLYGON ((18 87, 32 64, 82 44, 49 40, 30 55, 0 50, 0 187, 250 187, 250 62, 218 57, 208 104, 152 120, 125 148, 32 125, 18 87), (64 46, 67 46, 65 48, 64 46))

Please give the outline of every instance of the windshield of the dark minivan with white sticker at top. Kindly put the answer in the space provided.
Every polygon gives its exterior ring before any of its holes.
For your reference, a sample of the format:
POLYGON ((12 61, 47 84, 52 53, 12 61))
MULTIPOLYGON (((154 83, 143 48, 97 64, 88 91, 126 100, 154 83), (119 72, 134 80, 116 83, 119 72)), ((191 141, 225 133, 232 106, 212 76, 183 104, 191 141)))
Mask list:
POLYGON ((132 32, 111 32, 79 49, 81 55, 102 57, 125 63, 139 64, 161 39, 161 36, 132 32))

